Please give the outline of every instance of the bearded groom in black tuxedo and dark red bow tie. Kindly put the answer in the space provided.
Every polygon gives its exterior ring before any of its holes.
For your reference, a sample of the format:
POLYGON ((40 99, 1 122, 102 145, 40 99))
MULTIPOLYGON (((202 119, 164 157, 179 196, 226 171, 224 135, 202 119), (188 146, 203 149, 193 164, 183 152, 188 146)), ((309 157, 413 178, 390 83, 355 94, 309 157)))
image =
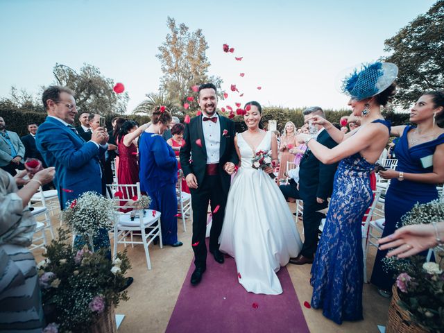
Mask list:
POLYGON ((219 251, 219 235, 222 230, 225 205, 230 189, 230 174, 239 162, 234 149, 234 123, 216 112, 216 87, 212 83, 200 85, 198 103, 202 114, 191 119, 185 126, 183 145, 180 148, 180 165, 191 191, 193 208, 193 238, 196 269, 191 284, 202 280, 207 263, 207 209, 211 201, 212 227, 210 253, 216 262, 223 264, 219 251))

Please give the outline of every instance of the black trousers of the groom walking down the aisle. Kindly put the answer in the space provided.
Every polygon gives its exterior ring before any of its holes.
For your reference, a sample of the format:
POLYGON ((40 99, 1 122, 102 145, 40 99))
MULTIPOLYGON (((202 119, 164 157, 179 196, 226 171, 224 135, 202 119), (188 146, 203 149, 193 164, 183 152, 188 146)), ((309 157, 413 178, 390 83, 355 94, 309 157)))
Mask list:
POLYGON ((203 184, 198 184, 197 189, 191 191, 191 206, 193 208, 193 238, 192 247, 194 251, 194 264, 196 267, 207 266, 207 246, 205 244, 205 234, 207 231, 207 209, 208 201, 211 200, 211 211, 214 212, 219 205, 219 209, 212 215, 212 227, 210 230, 210 252, 219 250, 219 235, 222 230, 223 216, 225 215, 225 205, 227 196, 221 186, 220 176, 205 176, 203 184))

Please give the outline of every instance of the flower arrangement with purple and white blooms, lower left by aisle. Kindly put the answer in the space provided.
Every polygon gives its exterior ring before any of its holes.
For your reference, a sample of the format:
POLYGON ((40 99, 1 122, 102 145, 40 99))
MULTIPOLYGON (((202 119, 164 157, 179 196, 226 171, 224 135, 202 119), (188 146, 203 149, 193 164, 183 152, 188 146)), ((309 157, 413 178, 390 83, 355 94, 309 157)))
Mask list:
POLYGON ((73 250, 66 230, 51 241, 37 264, 42 304, 48 326, 43 332, 89 332, 101 316, 128 300, 126 271, 131 268, 126 250, 114 261, 105 250, 92 253, 87 246, 73 250))

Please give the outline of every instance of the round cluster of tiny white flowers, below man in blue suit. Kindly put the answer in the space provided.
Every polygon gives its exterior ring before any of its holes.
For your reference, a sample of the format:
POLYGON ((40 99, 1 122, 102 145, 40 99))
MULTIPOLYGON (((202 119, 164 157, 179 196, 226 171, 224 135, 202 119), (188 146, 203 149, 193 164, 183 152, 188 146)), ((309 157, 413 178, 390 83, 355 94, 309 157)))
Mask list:
POLYGON ((62 219, 76 234, 94 235, 100 229, 112 228, 114 206, 112 200, 92 191, 87 191, 68 203, 62 219))

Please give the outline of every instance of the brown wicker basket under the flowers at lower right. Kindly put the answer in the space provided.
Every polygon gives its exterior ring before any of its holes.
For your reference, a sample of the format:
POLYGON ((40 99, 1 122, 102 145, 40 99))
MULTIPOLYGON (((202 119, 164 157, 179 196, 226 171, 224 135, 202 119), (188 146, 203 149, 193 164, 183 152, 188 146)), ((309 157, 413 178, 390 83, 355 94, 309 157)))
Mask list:
POLYGON ((402 309, 398 305, 400 296, 398 295, 398 287, 393 284, 393 297, 391 298, 390 307, 388 307, 388 322, 386 333, 427 333, 422 327, 410 323, 410 313, 402 309))

